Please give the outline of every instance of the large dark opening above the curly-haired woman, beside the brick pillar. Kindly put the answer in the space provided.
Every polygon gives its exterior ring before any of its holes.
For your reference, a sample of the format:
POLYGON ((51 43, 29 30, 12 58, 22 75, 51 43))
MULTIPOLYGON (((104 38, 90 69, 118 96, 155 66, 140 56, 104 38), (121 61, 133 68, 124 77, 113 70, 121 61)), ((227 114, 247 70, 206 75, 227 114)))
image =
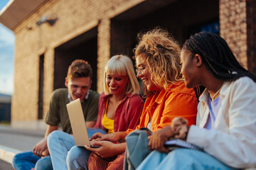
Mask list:
POLYGON ((180 45, 191 34, 219 21, 219 0, 147 0, 111 20, 111 56, 132 56, 137 34, 156 26, 169 30, 180 45))

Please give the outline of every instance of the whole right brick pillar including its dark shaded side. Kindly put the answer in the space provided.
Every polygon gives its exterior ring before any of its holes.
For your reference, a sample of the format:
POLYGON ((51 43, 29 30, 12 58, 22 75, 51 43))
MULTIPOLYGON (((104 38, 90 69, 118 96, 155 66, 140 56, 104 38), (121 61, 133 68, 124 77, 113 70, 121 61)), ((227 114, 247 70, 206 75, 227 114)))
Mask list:
POLYGON ((256 74, 256 1, 220 0, 220 35, 238 62, 256 74))

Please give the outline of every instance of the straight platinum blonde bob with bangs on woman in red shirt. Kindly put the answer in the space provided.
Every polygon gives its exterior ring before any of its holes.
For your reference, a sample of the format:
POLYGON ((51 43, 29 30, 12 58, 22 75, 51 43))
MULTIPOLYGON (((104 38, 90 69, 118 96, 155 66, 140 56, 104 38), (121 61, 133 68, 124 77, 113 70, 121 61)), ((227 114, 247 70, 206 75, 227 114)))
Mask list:
POLYGON ((105 66, 104 73, 104 92, 110 94, 106 83, 107 74, 118 74, 121 76, 129 77, 129 83, 127 84, 127 91, 125 94, 138 94, 139 93, 139 82, 134 73, 132 60, 125 55, 114 55, 110 58, 105 66))

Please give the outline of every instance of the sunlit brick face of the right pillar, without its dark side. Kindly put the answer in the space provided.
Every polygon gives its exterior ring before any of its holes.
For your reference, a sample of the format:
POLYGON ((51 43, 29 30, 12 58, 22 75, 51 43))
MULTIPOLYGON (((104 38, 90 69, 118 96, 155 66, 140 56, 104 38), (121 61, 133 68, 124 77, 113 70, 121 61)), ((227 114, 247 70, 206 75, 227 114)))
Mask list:
POLYGON ((220 0, 220 36, 230 46, 238 62, 247 68, 246 0, 220 0))

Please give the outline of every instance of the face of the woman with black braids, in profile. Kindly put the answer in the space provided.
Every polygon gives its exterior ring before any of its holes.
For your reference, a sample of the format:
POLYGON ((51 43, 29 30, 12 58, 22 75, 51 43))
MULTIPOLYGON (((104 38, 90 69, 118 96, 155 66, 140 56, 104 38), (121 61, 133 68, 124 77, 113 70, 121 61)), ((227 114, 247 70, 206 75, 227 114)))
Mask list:
POLYGON ((193 55, 193 53, 188 50, 181 50, 181 74, 187 88, 193 88, 201 85, 198 82, 201 72, 199 72, 199 69, 197 67, 197 57, 198 55, 193 55))

